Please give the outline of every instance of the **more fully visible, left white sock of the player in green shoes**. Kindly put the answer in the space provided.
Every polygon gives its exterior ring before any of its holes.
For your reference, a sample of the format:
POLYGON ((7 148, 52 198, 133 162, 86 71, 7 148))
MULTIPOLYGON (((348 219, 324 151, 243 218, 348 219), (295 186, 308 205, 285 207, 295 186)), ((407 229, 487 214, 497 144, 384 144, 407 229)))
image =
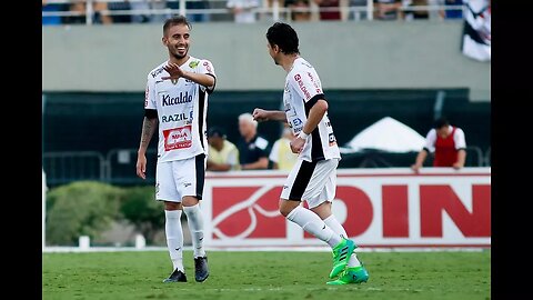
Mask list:
POLYGON ((325 226, 324 221, 316 213, 306 208, 296 207, 286 216, 286 219, 299 224, 319 240, 326 242, 331 248, 341 242, 341 237, 325 226))

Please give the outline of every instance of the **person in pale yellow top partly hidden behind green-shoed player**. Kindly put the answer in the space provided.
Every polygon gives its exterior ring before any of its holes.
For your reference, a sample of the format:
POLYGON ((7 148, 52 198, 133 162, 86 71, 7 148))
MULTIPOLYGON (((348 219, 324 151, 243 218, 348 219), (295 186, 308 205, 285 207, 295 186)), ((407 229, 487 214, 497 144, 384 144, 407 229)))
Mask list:
POLYGON ((273 162, 272 169, 290 171, 296 163, 298 154, 291 150, 291 141, 294 140, 294 134, 289 126, 283 128, 282 136, 272 146, 269 159, 273 162))

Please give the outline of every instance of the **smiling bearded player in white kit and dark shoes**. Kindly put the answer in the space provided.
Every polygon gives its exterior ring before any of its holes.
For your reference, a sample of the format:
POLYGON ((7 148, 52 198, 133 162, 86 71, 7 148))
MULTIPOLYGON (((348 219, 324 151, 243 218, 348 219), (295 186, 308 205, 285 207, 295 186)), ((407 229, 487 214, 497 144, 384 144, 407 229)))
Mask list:
POLYGON ((155 199, 164 202, 167 244, 173 272, 163 282, 187 282, 181 212, 187 214, 194 249, 194 279, 209 276, 203 249, 202 200, 208 152, 208 94, 215 84, 209 60, 189 56, 191 26, 182 17, 164 22, 162 42, 169 60, 148 74, 137 174, 145 179, 145 151, 159 124, 155 199))

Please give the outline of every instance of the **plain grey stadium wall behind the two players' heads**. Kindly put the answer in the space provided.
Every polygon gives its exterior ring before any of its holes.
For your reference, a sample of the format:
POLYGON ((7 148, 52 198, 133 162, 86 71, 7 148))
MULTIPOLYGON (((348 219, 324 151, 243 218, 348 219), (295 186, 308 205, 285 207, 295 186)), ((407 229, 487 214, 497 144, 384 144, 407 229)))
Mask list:
MULTIPOLYGON (((271 23, 194 23, 191 54, 210 59, 218 89, 280 90, 266 52, 271 23)), ((325 90, 466 88, 490 101, 491 66, 461 54, 462 21, 300 22, 300 50, 325 90)), ((165 60, 161 24, 42 28, 43 91, 142 91, 165 60)))

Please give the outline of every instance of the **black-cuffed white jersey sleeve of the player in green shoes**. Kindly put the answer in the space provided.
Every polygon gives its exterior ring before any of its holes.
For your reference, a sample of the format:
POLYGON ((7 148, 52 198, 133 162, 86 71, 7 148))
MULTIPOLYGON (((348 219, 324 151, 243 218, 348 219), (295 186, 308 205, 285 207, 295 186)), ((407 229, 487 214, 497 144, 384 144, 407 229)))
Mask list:
POLYGON ((319 99, 325 99, 319 84, 319 78, 314 78, 311 72, 295 72, 290 79, 289 84, 298 92, 305 102, 305 109, 310 110, 319 99))

